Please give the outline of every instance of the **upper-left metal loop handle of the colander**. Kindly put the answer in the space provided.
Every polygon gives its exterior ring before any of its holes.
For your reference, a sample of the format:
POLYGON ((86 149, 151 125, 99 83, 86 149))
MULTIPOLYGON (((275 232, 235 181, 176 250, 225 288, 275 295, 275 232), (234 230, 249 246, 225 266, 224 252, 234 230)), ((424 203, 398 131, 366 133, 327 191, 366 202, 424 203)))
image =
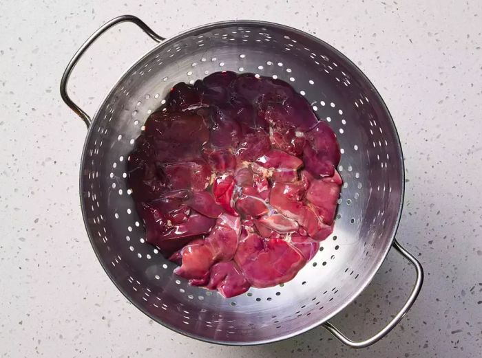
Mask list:
POLYGON ((94 34, 90 35, 90 37, 87 38, 87 41, 85 41, 85 43, 83 43, 83 45, 77 50, 77 52, 72 57, 72 60, 70 60, 70 63, 65 68, 65 71, 63 72, 63 76, 61 79, 61 86, 60 86, 63 102, 65 102, 65 104, 67 104, 67 106, 69 106, 72 109, 72 111, 77 113, 77 115, 85 122, 85 124, 87 125, 87 128, 89 128, 92 122, 90 116, 87 115, 87 113, 85 113, 80 107, 78 107, 77 104, 75 104, 67 94, 67 83, 69 82, 70 74, 72 73, 72 70, 74 69, 75 65, 77 64, 78 60, 82 57, 84 52, 90 47, 90 45, 92 45, 92 43, 94 43, 94 41, 96 41, 96 39, 99 36, 101 36, 101 34, 109 30, 111 27, 114 27, 118 23, 123 23, 127 21, 138 25, 138 27, 140 27, 140 29, 143 30, 154 41, 159 43, 165 40, 165 38, 156 34, 156 32, 154 32, 151 29, 151 27, 147 26, 144 23, 144 21, 132 15, 122 15, 112 19, 111 21, 108 21, 107 23, 99 27, 98 30, 94 32, 94 34))

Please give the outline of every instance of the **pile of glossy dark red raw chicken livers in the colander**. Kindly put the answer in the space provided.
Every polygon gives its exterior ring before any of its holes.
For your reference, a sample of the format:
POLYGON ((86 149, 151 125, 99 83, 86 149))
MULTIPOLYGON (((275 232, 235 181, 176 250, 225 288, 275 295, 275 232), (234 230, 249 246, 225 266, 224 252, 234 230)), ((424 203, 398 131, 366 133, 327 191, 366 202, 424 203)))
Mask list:
MULTIPOLYGON (((164 103, 164 102, 163 102, 164 103)), ((333 231, 337 138, 282 80, 180 82, 127 161, 147 243, 224 297, 291 280, 333 231)))

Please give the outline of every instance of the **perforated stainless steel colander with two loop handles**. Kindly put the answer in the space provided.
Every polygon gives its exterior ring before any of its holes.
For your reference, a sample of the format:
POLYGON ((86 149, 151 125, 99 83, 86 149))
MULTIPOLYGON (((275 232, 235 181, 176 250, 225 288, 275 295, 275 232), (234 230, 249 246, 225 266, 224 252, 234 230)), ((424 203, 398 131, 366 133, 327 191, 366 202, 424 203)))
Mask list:
POLYGON ((404 198, 399 137, 379 93, 348 58, 291 27, 262 21, 225 21, 168 40, 134 16, 105 23, 76 52, 61 80, 61 96, 87 124, 81 163, 81 205, 92 247, 109 278, 153 320, 203 341, 251 345, 275 342, 319 326, 354 348, 384 337, 417 298, 420 263, 395 240, 404 198), (91 119, 67 95, 72 69, 85 50, 114 25, 129 21, 159 44, 121 77, 91 119), (143 123, 177 82, 193 83, 215 71, 273 76, 311 102, 339 140, 344 185, 335 231, 297 276, 235 298, 192 287, 176 267, 145 242, 143 222, 127 186, 126 162, 143 123), (399 313, 362 342, 328 320, 368 285, 390 247, 417 271, 399 313))

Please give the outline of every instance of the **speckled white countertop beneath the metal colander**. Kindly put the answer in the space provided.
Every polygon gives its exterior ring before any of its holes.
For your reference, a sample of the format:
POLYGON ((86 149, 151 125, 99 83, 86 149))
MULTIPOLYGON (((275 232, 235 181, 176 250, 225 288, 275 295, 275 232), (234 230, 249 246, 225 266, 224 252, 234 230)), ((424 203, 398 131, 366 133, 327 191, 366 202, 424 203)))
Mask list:
MULTIPOLYGON (((481 357, 482 2, 299 3, 1 1, 0 357, 481 357), (318 328, 277 344, 213 346, 149 320, 117 291, 83 227, 86 131, 59 81, 85 38, 127 13, 167 37, 224 19, 284 23, 331 43, 373 81, 405 154, 397 238, 426 270, 419 299, 388 337, 350 350, 318 328)), ((152 45, 134 26, 116 27, 76 68, 74 98, 93 113, 152 45)), ((390 253, 335 322, 353 337, 374 333, 413 279, 390 253)))

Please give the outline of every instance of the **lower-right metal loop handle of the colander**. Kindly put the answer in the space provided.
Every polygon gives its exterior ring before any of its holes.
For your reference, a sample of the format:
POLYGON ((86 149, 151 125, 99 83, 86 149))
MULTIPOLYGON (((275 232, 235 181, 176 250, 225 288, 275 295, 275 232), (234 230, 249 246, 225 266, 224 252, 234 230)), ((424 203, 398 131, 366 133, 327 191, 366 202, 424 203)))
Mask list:
POLYGON ((347 346, 350 346, 352 348, 365 348, 368 346, 371 346, 375 342, 378 342, 381 338, 385 337, 388 332, 392 331, 392 329, 400 322, 400 320, 404 317, 404 315, 408 312, 410 307, 412 306, 413 302, 417 300, 417 296, 420 293, 420 289, 422 287, 423 283, 423 269, 420 265, 420 262, 415 258, 415 256, 412 256, 410 252, 408 252, 404 247, 401 247, 401 245, 398 243, 397 240, 394 240, 393 242, 393 247, 399 251, 399 253, 404 256, 407 260, 409 260, 412 265, 415 266, 415 270, 417 271, 417 279, 415 280, 415 286, 412 289, 412 292, 410 293, 410 296, 408 296, 408 300, 405 302, 404 306, 401 307, 401 310, 399 313, 395 315, 395 317, 392 318, 392 320, 381 330, 379 331, 376 335, 373 337, 370 337, 364 341, 353 341, 350 338, 346 337, 342 332, 339 331, 338 328, 333 326, 330 322, 325 322, 323 324, 324 328, 326 328, 332 335, 334 335, 337 339, 339 339, 342 343, 346 344, 347 346))

